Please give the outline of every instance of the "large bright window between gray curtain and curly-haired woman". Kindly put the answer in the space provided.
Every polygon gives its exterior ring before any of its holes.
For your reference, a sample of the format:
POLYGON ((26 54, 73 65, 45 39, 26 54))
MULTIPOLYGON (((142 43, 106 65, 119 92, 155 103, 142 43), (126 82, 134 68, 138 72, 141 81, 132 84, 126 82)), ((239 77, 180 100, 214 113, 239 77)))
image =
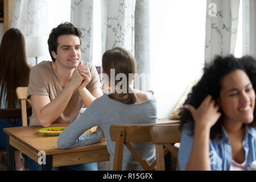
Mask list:
POLYGON ((151 89, 168 117, 204 67, 207 1, 150 1, 151 89))

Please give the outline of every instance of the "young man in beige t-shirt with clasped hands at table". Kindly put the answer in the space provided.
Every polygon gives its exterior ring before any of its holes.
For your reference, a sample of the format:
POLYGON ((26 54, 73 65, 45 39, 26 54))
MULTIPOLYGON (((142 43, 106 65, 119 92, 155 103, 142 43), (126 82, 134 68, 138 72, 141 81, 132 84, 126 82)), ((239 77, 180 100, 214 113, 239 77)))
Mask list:
MULTIPOLYGON (((27 93, 32 102, 30 126, 49 127, 52 123, 73 122, 80 116, 83 104, 88 107, 103 95, 96 68, 80 60, 80 37, 78 28, 67 22, 53 28, 49 35, 49 53, 53 61, 43 61, 30 71, 27 93)), ((92 141, 96 142, 100 142, 100 138, 92 141)), ((28 169, 41 169, 34 160, 24 157, 28 169)), ((97 170, 97 163, 69 166, 67 169, 97 170)))

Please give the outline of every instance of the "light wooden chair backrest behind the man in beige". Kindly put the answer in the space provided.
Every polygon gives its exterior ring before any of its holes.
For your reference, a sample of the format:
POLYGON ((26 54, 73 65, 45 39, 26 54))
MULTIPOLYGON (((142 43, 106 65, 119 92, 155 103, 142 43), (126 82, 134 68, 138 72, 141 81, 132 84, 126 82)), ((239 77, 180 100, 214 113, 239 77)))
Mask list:
POLYGON ((22 111, 22 126, 27 126, 27 114, 32 114, 31 107, 27 108, 26 101, 31 104, 31 101, 27 99, 27 87, 16 88, 17 98, 20 100, 20 106, 22 111), (31 110, 31 111, 30 111, 31 110), (27 111, 30 111, 29 113, 27 111))

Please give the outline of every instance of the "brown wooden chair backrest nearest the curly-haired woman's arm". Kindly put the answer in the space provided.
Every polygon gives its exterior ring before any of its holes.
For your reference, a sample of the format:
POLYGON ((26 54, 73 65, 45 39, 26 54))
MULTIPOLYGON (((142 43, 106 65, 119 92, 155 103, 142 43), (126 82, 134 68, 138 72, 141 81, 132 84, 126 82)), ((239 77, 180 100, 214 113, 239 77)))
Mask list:
POLYGON ((177 159, 178 151, 174 144, 179 143, 181 140, 179 126, 179 124, 151 126, 150 135, 156 148, 156 169, 159 171, 165 170, 164 156, 168 151, 177 159))

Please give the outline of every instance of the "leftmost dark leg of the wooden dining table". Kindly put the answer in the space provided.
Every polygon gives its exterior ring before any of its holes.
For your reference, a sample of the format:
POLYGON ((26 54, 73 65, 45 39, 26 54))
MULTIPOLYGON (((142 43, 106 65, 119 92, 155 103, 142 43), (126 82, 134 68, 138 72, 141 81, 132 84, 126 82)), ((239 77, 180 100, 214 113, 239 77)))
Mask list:
POLYGON ((6 135, 7 170, 15 171, 14 147, 10 145, 10 137, 6 135))

